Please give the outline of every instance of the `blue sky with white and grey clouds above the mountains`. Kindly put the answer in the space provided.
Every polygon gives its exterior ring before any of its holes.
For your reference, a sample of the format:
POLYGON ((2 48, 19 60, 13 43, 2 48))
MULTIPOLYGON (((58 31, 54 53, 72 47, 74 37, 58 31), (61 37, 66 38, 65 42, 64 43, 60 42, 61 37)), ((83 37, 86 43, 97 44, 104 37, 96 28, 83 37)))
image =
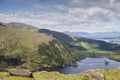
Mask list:
POLYGON ((120 0, 0 0, 0 22, 60 32, 120 32, 120 0))

